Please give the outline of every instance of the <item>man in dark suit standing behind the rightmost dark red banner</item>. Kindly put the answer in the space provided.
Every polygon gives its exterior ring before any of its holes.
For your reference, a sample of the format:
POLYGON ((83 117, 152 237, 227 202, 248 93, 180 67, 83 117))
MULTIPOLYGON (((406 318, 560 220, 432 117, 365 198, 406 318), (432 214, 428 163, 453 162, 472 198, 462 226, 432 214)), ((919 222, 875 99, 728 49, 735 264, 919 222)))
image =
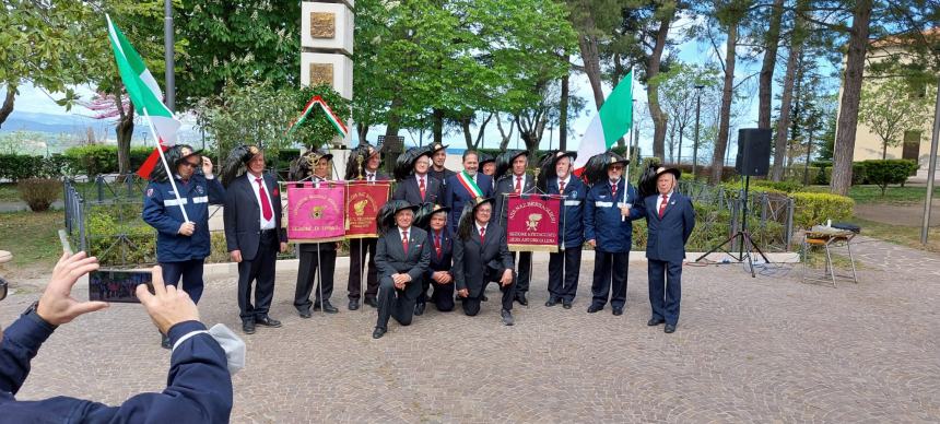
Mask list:
MULTIPOLYGON (((536 191, 536 182, 531 176, 526 174, 526 167, 529 165, 529 151, 520 150, 514 152, 509 156, 512 173, 500 178, 496 182, 496 211, 500 216, 500 226, 508 228, 508 195, 524 195, 536 191)), ((498 173, 498 170, 497 170, 498 173)), ((513 252, 513 260, 516 260, 516 252, 513 252)), ((519 260, 516 261, 519 267, 516 270, 516 302, 519 305, 528 306, 529 301, 526 298, 526 293, 529 291, 529 274, 532 270, 532 252, 520 251, 519 260)))

